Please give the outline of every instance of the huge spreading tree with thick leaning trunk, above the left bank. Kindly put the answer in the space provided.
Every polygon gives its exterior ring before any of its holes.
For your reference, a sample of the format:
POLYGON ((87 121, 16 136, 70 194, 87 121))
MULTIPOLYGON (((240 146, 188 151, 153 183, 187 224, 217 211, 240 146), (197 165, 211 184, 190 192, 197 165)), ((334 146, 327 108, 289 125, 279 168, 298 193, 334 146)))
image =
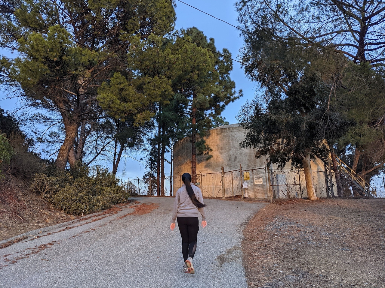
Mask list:
MULTIPOLYGON (((17 56, 3 56, 1 78, 9 87, 22 88, 33 106, 59 115, 65 138, 56 166, 63 170, 79 125, 100 115, 98 88, 117 71, 127 75, 137 71, 127 65, 131 63, 130 53, 173 29, 173 3, 168 0, 9 3, 13 6, 8 9, 0 7, 0 46, 17 51, 17 56)), ((134 96, 131 100, 136 99, 134 96)))

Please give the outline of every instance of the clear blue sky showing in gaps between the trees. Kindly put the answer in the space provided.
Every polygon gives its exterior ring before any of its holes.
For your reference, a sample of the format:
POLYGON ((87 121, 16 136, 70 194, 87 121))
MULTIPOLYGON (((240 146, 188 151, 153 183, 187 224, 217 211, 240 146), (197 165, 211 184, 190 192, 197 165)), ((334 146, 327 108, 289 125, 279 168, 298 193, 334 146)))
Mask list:
MULTIPOLYGON (((207 12, 215 17, 221 18, 222 20, 237 25, 237 12, 234 7, 233 0, 184 0, 186 2, 204 12, 207 12)), ((216 20, 198 10, 195 10, 179 1, 176 1, 176 29, 189 28, 192 26, 202 30, 208 38, 215 39, 216 48, 221 51, 222 48, 227 48, 234 59, 238 59, 239 49, 243 46, 243 39, 239 36, 239 31, 236 28, 227 25, 219 20, 216 20)), ((5 54, 5 53, 2 53, 5 54)), ((253 99, 255 88, 258 86, 257 83, 251 82, 245 75, 243 70, 240 68, 240 64, 233 63, 233 71, 231 72, 231 79, 236 83, 236 89, 243 89, 243 97, 229 104, 223 116, 230 124, 238 122, 236 120, 236 114, 238 114, 241 106, 246 102, 247 99, 253 99)), ((5 93, 3 91, 0 94, 0 107, 4 110, 13 111, 20 107, 20 103, 17 103, 17 99, 4 99, 5 93)), ((20 101, 20 98, 19 98, 20 101)), ((137 156, 140 158, 140 156, 137 156)), ((124 163, 121 163, 120 171, 124 168, 124 163)), ((141 178, 144 174, 144 165, 134 161, 128 160, 126 162, 126 177, 139 177, 141 178)), ((166 171, 169 167, 166 167, 166 171)))

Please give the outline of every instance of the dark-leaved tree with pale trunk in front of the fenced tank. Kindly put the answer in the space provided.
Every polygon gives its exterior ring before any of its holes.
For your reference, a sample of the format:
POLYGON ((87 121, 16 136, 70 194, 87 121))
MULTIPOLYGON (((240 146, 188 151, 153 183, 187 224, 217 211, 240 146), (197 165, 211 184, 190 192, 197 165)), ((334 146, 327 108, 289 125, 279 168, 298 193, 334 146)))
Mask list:
POLYGON ((341 137, 349 122, 328 106, 329 91, 316 73, 293 81, 285 96, 269 96, 267 107, 254 100, 239 112, 247 131, 241 146, 256 149, 257 158, 268 155, 280 168, 288 162, 303 168, 308 198, 316 200, 311 159, 326 156, 327 143, 341 137))

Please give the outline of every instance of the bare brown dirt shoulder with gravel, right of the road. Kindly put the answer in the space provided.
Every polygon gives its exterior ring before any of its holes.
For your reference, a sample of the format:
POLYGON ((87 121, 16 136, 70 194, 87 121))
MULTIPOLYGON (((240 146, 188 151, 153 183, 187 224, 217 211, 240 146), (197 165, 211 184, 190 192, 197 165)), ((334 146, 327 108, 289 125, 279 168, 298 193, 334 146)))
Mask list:
POLYGON ((385 200, 275 202, 243 233, 249 287, 385 287, 385 200))

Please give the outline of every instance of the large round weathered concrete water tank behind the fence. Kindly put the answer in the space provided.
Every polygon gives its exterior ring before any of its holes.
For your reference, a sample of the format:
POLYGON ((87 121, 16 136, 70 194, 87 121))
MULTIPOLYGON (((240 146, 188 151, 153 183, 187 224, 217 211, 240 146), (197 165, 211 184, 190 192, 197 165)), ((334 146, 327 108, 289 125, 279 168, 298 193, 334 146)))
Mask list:
MULTIPOLYGON (((255 150, 241 148, 239 144, 245 138, 245 130, 240 124, 231 124, 209 130, 204 137, 206 145, 212 151, 212 157, 206 160, 206 155, 197 155, 196 184, 201 188, 205 197, 234 197, 244 193, 243 183, 248 182, 248 191, 253 198, 266 199, 270 191, 274 198, 304 197, 306 193, 303 172, 292 169, 287 163, 284 170, 278 169, 276 164, 270 164, 270 176, 266 169, 268 155, 257 159, 255 150), (242 171, 240 170, 240 164, 242 171), (224 176, 222 176, 222 167, 224 176), (245 174, 246 172, 246 174, 245 174), (245 180, 245 176, 249 180, 245 180), (295 189, 296 192, 291 192, 295 189), (301 193, 300 193, 301 192, 301 193)), ((316 158, 311 163, 313 181, 316 184, 318 197, 325 197, 325 177, 323 162, 316 158), (317 184, 318 183, 318 184, 317 184)), ((186 137, 174 144, 173 157, 173 191, 182 185, 181 175, 191 174, 191 141, 186 137)), ((247 179, 247 178, 246 178, 247 179)), ((306 196, 306 195, 305 195, 306 196)))

